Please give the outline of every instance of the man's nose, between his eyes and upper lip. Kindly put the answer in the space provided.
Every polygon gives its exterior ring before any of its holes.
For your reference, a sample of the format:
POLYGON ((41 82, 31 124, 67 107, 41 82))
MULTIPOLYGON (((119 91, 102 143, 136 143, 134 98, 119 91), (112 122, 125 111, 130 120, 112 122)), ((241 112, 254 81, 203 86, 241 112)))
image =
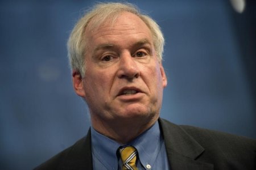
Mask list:
POLYGON ((118 78, 133 79, 138 78, 139 67, 135 58, 130 53, 123 54, 119 60, 118 78))

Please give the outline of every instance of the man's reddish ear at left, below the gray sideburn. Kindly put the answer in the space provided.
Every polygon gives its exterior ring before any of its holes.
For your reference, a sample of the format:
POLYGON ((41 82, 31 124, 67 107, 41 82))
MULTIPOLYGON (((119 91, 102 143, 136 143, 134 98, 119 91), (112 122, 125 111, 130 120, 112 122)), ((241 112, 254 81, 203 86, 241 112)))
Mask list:
POLYGON ((77 95, 85 98, 84 83, 79 71, 73 70, 72 73, 73 88, 77 95))

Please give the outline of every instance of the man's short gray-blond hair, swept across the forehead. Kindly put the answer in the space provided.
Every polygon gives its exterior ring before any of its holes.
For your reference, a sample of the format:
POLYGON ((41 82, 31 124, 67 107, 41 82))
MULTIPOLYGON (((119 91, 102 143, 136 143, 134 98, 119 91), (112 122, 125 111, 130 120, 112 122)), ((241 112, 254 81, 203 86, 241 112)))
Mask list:
POLYGON ((72 70, 79 71, 82 78, 85 74, 85 53, 86 46, 89 43, 86 41, 85 29, 90 23, 90 27, 97 28, 106 20, 114 23, 115 19, 122 12, 131 12, 143 20, 152 33, 154 48, 158 61, 162 62, 164 37, 160 27, 149 16, 142 14, 138 8, 130 3, 98 3, 87 12, 73 28, 68 40, 68 58, 72 70), (92 20, 93 19, 93 20, 92 20))

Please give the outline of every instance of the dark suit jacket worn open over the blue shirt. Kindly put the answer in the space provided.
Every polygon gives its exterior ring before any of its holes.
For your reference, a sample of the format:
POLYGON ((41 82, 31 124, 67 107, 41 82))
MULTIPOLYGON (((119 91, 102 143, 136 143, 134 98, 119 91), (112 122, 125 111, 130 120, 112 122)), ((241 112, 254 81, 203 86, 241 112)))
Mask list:
MULTIPOLYGON (((256 167, 256 141, 253 139, 178 126, 161 118, 159 124, 172 170, 246 170, 256 167)), ((90 130, 75 145, 35 169, 93 169, 90 130)))

